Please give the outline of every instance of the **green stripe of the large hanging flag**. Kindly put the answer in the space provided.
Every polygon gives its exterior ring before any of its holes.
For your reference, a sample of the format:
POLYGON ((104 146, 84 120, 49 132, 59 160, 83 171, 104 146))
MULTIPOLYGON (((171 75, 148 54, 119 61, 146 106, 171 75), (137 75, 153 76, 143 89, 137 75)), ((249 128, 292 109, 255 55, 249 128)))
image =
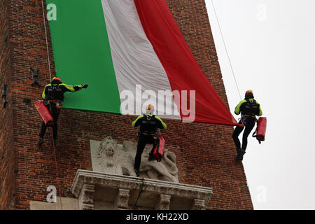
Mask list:
MULTIPOLYGON (((57 76, 69 85, 89 84, 69 94, 64 108, 120 113, 120 98, 100 0, 47 0, 57 6, 50 21, 57 76)), ((49 9, 48 9, 49 12, 49 9)))

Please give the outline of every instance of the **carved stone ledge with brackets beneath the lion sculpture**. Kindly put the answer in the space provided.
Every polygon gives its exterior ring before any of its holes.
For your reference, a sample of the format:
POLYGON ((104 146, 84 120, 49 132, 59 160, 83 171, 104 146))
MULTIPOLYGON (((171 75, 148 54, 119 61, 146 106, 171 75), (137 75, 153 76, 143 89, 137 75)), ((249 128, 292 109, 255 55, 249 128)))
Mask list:
POLYGON ((79 207, 83 209, 97 209, 87 206, 92 202, 116 204, 113 209, 160 209, 161 197, 170 198, 162 203, 163 208, 205 209, 212 195, 212 188, 207 187, 79 169, 71 192, 75 197, 80 198, 84 194, 82 191, 86 189, 86 186, 94 186, 94 191, 85 193, 83 201, 79 199, 79 207), (124 193, 122 194, 122 192, 124 193), (169 197, 165 195, 169 195, 169 197), (122 197, 124 202, 118 200, 122 197), (89 203, 85 204, 87 201, 89 203), (123 203, 117 203, 117 201, 123 203), (165 204, 167 202, 169 204, 165 204))

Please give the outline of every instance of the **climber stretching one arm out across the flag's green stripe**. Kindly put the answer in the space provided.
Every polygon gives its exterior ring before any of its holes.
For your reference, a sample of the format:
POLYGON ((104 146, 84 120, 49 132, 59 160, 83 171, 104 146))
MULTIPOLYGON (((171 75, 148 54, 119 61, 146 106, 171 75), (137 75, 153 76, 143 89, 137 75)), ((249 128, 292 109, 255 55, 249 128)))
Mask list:
MULTIPOLYGON (((62 83, 60 78, 54 77, 50 84, 45 85, 43 90, 42 98, 45 100, 45 106, 53 118, 53 138, 54 143, 57 143, 57 120, 59 117, 60 108, 62 106, 62 102, 64 100, 64 92, 76 92, 81 90, 82 88, 87 88, 87 84, 85 85, 66 85, 62 83)), ((43 122, 41 125, 41 132, 39 134, 38 145, 43 144, 43 137, 45 136, 45 132, 48 125, 45 125, 43 122)))

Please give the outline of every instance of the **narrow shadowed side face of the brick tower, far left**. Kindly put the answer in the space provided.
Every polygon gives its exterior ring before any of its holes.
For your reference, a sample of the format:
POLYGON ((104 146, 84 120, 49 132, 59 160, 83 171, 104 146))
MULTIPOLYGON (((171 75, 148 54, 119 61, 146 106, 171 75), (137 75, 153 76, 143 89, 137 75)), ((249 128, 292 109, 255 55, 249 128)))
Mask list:
POLYGON ((7 87, 8 104, 0 98, 0 209, 14 207, 13 111, 10 85, 10 36, 7 1, 0 1, 0 95, 7 87))

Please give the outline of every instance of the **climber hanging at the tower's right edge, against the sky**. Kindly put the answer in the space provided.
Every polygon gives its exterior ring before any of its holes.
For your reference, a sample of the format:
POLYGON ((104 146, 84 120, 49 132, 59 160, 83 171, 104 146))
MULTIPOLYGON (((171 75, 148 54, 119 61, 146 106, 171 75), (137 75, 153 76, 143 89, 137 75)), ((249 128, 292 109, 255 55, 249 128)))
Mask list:
POLYGON ((237 126, 232 134, 232 138, 235 142, 237 148, 237 160, 243 160, 243 156, 247 147, 247 137, 255 127, 256 116, 262 116, 262 110, 260 104, 253 99, 253 91, 248 90, 245 93, 245 99, 241 100, 235 108, 235 114, 239 115, 241 113, 241 119, 239 124, 244 125, 244 127, 237 126), (239 141, 239 134, 244 130, 242 144, 239 141))

